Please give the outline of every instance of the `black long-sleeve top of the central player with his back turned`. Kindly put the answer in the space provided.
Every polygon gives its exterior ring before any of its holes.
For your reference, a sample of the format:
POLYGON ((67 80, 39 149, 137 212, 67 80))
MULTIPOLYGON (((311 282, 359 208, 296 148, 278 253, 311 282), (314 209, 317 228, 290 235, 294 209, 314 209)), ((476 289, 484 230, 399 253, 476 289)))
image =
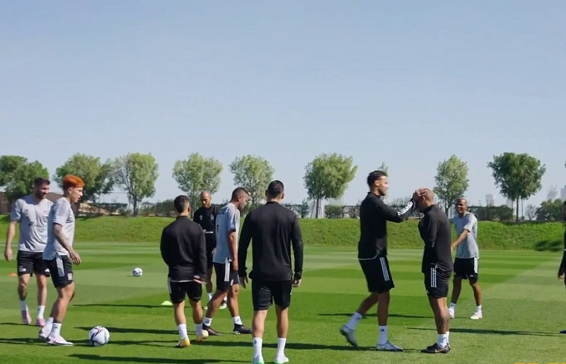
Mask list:
POLYGON ((238 270, 246 276, 248 247, 252 241, 250 278, 260 281, 291 281, 303 274, 303 238, 296 214, 277 202, 267 202, 248 213, 238 243, 238 270), (294 274, 291 264, 294 254, 294 274))

